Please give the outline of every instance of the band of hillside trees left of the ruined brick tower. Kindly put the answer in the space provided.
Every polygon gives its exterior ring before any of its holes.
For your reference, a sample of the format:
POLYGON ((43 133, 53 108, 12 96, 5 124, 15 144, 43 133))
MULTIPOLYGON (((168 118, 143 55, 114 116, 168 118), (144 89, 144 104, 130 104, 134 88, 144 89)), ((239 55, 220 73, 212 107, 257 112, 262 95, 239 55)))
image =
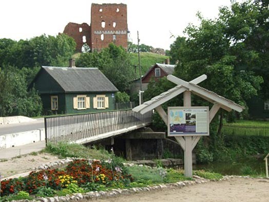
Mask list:
POLYGON ((67 66, 75 50, 75 42, 65 34, 36 36, 18 42, 0 39, 0 65, 18 68, 35 66, 67 66))

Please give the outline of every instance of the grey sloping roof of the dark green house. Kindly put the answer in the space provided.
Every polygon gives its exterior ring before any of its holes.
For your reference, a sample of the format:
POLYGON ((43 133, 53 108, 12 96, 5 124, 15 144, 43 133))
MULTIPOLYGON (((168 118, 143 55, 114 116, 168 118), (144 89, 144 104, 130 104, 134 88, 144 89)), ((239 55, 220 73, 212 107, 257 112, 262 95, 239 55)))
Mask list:
POLYGON ((43 68, 69 93, 118 91, 98 68, 48 66, 43 68))

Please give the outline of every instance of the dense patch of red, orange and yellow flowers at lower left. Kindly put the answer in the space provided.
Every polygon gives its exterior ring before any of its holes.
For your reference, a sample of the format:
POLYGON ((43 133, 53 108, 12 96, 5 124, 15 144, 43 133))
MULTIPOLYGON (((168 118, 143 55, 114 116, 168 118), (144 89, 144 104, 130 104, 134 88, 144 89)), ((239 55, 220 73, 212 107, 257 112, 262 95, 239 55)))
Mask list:
POLYGON ((13 178, 1 181, 1 196, 17 194, 21 191, 29 194, 49 195, 55 191, 75 193, 83 190, 92 191, 98 187, 108 187, 112 183, 132 181, 123 164, 117 160, 74 160, 65 170, 51 169, 31 172, 24 178, 13 178), (83 189, 79 189, 83 188, 83 189))

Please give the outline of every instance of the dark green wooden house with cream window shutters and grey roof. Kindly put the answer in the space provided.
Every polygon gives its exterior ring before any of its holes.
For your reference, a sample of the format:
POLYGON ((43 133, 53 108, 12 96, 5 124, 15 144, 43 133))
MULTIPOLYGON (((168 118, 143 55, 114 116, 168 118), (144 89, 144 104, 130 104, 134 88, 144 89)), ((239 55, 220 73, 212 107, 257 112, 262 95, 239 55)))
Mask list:
POLYGON ((30 84, 39 91, 44 114, 114 109, 118 89, 98 68, 43 66, 30 84))

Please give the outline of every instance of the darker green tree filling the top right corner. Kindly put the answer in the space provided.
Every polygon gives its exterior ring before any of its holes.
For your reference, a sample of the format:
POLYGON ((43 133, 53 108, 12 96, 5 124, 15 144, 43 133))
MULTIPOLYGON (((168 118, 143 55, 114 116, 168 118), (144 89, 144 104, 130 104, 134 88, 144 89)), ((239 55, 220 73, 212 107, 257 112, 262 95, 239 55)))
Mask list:
POLYGON ((232 42, 230 52, 236 56, 238 70, 252 70, 262 76, 261 95, 269 97, 269 1, 233 3, 220 9, 219 21, 226 38, 232 42))

